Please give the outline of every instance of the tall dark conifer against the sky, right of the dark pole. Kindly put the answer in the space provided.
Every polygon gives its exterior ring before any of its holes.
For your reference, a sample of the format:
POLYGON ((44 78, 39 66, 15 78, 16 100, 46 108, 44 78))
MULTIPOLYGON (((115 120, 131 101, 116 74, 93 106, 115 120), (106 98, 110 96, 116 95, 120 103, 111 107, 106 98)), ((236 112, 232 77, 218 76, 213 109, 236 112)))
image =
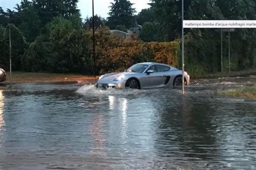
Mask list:
POLYGON ((127 28, 135 25, 134 13, 136 10, 132 8, 132 5, 129 0, 114 0, 110 6, 107 26, 114 29, 117 25, 124 25, 127 28))

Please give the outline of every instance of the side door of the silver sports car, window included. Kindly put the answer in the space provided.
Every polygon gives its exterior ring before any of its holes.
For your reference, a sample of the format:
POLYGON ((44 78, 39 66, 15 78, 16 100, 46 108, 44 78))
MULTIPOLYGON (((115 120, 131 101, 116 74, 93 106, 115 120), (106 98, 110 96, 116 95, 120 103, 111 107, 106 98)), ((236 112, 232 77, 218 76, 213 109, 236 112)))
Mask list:
POLYGON ((164 86, 167 75, 161 72, 161 65, 153 65, 147 70, 153 70, 153 73, 146 74, 144 77, 143 84, 145 88, 161 87, 164 86))

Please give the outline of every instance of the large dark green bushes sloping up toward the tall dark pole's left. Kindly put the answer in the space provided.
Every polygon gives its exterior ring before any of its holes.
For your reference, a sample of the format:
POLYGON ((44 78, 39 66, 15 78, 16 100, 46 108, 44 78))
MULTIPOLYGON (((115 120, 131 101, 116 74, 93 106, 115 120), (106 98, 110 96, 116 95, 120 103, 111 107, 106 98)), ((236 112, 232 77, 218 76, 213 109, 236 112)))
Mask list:
POLYGON ((79 15, 57 17, 48 26, 49 34, 38 37, 23 55, 23 70, 83 72, 87 46, 79 15))

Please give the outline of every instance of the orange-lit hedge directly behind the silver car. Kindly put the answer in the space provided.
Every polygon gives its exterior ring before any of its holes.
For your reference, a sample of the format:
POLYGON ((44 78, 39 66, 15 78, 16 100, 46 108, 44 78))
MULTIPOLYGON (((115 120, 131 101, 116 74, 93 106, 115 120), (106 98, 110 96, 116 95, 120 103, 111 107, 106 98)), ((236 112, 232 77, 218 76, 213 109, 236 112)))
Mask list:
MULTIPOLYGON (((92 41, 92 32, 87 36, 92 41)), ((110 34, 107 27, 98 29, 95 37, 97 74, 123 71, 134 63, 147 61, 177 66, 178 42, 146 43, 135 37, 122 39, 110 34)), ((89 46, 89 53, 92 54, 92 46, 89 46)))

